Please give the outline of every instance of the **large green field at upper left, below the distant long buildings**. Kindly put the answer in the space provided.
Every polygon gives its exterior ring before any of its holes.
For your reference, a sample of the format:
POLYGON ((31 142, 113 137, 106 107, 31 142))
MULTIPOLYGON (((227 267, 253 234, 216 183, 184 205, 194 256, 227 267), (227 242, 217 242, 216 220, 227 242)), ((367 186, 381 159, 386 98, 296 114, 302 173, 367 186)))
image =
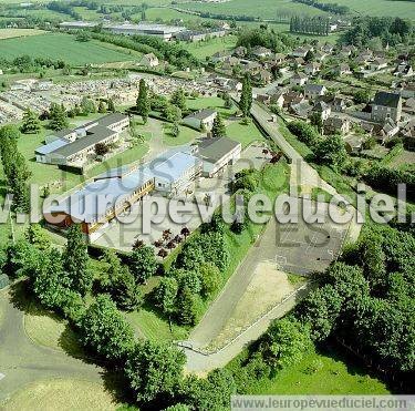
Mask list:
POLYGON ((22 39, 7 39, 1 41, 1 56, 14 59, 28 54, 53 60, 63 60, 72 65, 86 63, 104 63, 113 61, 128 61, 132 56, 106 47, 98 41, 79 42, 75 37, 63 33, 48 33, 22 39))

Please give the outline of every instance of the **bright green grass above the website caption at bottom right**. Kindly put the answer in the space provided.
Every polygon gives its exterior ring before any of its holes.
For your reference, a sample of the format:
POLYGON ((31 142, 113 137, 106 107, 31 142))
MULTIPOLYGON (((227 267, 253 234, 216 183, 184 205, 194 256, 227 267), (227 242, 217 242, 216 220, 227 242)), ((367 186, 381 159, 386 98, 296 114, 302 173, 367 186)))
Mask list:
MULTIPOLYGON (((230 369, 238 369, 235 359, 230 369)), ((388 394, 387 387, 366 370, 345 358, 333 347, 309 352, 295 366, 278 372, 276 378, 251 380, 249 394, 388 394)))

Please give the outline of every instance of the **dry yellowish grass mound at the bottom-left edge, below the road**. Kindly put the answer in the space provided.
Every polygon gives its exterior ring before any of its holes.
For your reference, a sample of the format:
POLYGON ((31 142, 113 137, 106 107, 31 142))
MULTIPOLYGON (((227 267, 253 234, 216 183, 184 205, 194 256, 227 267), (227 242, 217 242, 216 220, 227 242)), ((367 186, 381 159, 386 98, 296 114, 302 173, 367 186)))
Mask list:
MULTIPOLYGON (((0 404, 1 405, 1 404, 0 404)), ((73 410, 115 410, 117 404, 102 383, 54 379, 40 381, 18 391, 3 407, 4 411, 73 411, 73 410)))

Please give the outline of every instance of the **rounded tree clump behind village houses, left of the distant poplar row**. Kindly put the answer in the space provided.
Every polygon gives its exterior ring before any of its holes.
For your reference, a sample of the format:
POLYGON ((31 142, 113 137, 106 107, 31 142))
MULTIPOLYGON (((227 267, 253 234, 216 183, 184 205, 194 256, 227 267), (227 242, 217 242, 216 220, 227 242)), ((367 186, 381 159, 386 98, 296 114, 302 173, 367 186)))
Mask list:
POLYGON ((276 33, 266 28, 245 29, 238 35, 237 45, 246 47, 248 50, 260 45, 280 53, 298 45, 298 41, 290 35, 276 33))

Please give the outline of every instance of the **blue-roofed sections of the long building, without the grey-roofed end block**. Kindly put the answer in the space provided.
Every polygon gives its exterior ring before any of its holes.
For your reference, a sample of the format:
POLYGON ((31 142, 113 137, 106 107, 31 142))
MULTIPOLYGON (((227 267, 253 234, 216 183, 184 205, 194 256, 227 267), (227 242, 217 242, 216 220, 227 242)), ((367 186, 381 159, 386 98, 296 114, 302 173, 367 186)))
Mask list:
POLYGON ((173 150, 145 165, 116 167, 98 175, 94 182, 52 205, 44 218, 60 229, 80 223, 86 238, 94 240, 114 217, 153 191, 176 195, 200 173, 199 158, 173 150))

